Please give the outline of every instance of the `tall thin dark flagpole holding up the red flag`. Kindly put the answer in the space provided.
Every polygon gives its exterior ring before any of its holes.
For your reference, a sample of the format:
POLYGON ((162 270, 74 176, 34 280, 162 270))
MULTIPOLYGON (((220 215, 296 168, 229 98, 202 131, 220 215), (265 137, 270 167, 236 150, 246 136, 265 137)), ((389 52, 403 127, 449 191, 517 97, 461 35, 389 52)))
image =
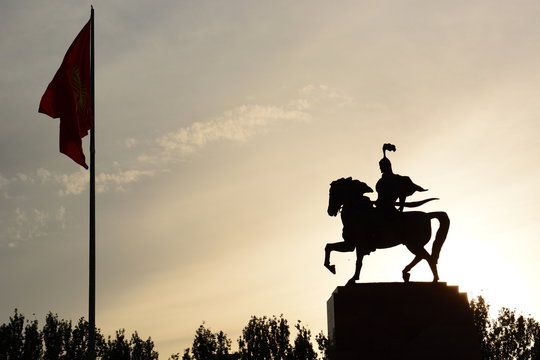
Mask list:
POLYGON ((90 256, 88 289, 88 359, 96 359, 96 172, 95 172, 95 128, 96 104, 94 92, 94 7, 90 10, 90 96, 92 100, 93 124, 90 129, 90 256))

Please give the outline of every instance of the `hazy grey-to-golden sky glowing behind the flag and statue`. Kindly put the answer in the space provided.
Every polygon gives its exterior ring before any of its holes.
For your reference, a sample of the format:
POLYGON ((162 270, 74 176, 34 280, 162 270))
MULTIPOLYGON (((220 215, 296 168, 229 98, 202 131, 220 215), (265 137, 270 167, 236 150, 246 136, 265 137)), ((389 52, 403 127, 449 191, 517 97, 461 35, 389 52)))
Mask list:
MULTIPOLYGON (((1 0, 1 323, 87 317, 89 174, 37 109, 91 4, 102 333, 162 358, 203 321, 233 342, 252 315, 326 333, 355 261, 323 267, 329 184, 374 187, 386 142, 429 189, 410 200, 451 219, 441 281, 540 319, 538 1, 1 0)), ((360 281, 412 258, 377 250, 360 281)))

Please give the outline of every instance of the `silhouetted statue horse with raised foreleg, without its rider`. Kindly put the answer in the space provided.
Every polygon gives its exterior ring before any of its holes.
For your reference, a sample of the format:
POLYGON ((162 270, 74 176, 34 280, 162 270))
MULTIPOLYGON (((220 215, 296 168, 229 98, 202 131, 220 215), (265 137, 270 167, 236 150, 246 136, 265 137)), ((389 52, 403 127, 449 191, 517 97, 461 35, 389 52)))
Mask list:
MULTIPOLYGON (((421 260, 426 260, 433 273, 433 282, 439 280, 437 261, 446 240, 450 219, 445 212, 406 211, 396 212, 395 216, 385 216, 373 207, 373 202, 364 196, 373 190, 365 183, 352 178, 341 178, 330 184, 328 215, 336 216, 341 210, 343 240, 329 243, 325 247, 324 266, 333 274, 335 265, 330 263, 332 251, 351 252, 356 249, 356 268, 353 277, 347 282, 352 285, 360 278, 362 259, 376 249, 386 249, 403 244, 415 257, 402 271, 403 281, 409 282, 411 269, 421 260), (433 241, 431 254, 424 246, 431 239, 431 219, 439 221, 439 229, 433 241)), ((428 201, 406 203, 416 207, 428 201)))

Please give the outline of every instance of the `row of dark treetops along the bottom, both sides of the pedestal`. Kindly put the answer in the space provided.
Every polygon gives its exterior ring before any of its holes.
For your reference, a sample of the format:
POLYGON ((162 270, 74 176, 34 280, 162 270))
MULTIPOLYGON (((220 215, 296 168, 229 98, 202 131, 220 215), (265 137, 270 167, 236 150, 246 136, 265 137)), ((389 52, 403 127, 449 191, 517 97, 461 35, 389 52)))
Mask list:
MULTIPOLYGON (((484 360, 540 360, 540 324, 514 310, 501 308, 490 318, 490 306, 483 297, 470 303, 474 325, 481 340, 484 360)), ((252 316, 237 340, 238 350, 223 331, 212 332, 203 322, 195 331, 193 345, 169 360, 329 360, 331 344, 320 332, 315 336, 298 321, 291 341, 289 324, 283 316, 252 316)), ((17 309, 0 325, 0 360, 86 360, 89 324, 84 318, 73 325, 49 313, 45 325, 26 320, 17 309)), ((106 339, 96 329, 96 354, 101 360, 158 360, 151 338, 143 340, 124 329, 106 339)))

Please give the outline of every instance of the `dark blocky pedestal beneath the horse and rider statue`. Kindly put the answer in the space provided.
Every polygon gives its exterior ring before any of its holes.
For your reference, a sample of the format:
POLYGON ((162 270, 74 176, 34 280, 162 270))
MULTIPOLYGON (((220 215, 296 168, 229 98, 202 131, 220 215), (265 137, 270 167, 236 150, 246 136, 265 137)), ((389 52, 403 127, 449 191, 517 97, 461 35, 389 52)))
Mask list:
POLYGON ((457 286, 340 286, 327 307, 335 360, 480 359, 467 294, 457 286))

